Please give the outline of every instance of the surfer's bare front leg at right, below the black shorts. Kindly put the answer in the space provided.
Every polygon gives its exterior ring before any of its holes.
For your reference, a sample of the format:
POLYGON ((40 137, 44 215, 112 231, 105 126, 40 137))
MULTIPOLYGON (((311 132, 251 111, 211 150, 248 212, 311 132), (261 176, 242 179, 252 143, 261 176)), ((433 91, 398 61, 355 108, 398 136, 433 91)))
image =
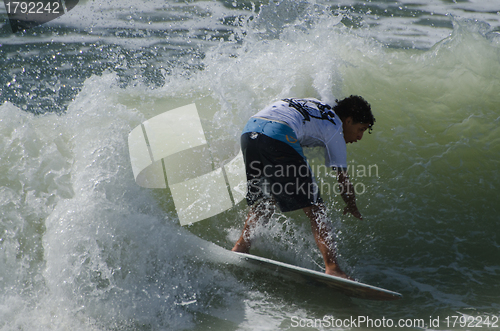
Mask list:
POLYGON ((335 243, 333 238, 329 235, 327 228, 327 215, 324 205, 312 205, 303 208, 304 213, 311 220, 312 232, 318 248, 323 254, 325 261, 325 273, 333 276, 349 278, 343 272, 337 263, 337 253, 335 252, 335 243))

